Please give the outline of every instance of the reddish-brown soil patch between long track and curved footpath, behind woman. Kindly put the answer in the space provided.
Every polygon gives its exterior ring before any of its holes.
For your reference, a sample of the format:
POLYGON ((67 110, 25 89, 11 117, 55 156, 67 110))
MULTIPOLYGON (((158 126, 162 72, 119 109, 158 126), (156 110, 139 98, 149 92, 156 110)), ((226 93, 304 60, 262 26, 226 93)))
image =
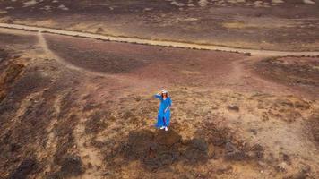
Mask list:
POLYGON ((48 47, 66 63, 94 72, 118 73, 139 81, 153 81, 154 85, 162 86, 207 86, 223 81, 233 71, 233 63, 246 57, 208 50, 152 47, 56 35, 45 37, 48 47))

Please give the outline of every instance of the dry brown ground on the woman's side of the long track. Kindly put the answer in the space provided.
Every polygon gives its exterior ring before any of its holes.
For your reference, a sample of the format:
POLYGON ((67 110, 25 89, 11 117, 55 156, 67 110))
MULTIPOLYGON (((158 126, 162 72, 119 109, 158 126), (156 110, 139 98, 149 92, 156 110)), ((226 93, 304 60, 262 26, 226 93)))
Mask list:
POLYGON ((319 177, 318 57, 0 37, 0 177, 319 177))

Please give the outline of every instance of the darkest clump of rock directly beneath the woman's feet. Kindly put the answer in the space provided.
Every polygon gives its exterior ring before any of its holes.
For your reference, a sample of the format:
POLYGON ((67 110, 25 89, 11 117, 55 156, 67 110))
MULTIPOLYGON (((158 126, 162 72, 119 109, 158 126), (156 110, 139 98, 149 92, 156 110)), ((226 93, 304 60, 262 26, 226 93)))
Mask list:
POLYGON ((124 151, 125 158, 138 159, 144 167, 151 170, 169 166, 181 160, 185 160, 189 164, 196 164, 208 159, 206 141, 203 139, 182 141, 181 136, 173 130, 168 132, 162 130, 130 132, 127 143, 121 149, 124 151))

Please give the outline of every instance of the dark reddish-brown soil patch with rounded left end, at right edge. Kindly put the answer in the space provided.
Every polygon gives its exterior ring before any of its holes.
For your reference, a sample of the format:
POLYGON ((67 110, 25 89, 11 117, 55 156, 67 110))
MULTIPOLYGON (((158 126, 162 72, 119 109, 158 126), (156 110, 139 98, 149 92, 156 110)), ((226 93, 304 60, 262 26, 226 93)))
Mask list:
POLYGON ((303 89, 319 98, 318 57, 271 57, 258 62, 255 69, 264 78, 303 89))

